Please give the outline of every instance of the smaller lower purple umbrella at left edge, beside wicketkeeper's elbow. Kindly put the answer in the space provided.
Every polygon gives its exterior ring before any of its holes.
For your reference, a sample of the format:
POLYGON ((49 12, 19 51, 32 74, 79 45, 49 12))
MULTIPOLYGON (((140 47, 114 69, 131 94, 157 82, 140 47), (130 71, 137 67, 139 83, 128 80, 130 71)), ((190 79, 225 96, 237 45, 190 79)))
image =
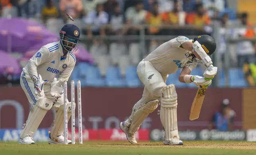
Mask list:
POLYGON ((0 50, 0 73, 3 72, 20 74, 21 68, 17 59, 6 51, 0 50))

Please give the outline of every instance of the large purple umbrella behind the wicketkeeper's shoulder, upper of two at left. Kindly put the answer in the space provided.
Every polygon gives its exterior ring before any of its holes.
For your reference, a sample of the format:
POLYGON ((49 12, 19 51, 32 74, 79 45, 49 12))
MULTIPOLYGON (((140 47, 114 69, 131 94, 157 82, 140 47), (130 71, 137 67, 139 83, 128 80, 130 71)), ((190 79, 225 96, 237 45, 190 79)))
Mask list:
POLYGON ((23 18, 0 18, 0 49, 4 51, 24 53, 29 47, 48 38, 56 40, 59 36, 35 21, 23 18))

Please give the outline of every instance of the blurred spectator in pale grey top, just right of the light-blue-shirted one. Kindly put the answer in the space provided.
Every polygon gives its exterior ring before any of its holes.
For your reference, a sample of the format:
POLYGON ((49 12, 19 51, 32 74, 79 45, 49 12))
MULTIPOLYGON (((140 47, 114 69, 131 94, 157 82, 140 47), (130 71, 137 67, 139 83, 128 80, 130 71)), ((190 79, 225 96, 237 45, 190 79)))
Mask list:
POLYGON ((114 4, 114 12, 110 16, 109 24, 111 27, 108 28, 108 34, 118 35, 123 33, 123 21, 124 16, 122 15, 120 5, 114 4))

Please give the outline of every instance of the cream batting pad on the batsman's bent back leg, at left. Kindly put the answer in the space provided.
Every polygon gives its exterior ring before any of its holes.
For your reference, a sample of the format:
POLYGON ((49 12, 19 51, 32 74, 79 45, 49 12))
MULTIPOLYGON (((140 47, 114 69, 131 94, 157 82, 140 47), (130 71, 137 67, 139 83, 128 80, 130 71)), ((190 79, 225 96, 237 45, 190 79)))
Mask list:
POLYGON ((143 106, 141 106, 138 110, 133 112, 132 116, 132 123, 129 128, 129 133, 134 135, 135 132, 138 130, 142 122, 145 118, 149 115, 149 113, 153 112, 158 106, 158 100, 153 100, 147 102, 143 106))

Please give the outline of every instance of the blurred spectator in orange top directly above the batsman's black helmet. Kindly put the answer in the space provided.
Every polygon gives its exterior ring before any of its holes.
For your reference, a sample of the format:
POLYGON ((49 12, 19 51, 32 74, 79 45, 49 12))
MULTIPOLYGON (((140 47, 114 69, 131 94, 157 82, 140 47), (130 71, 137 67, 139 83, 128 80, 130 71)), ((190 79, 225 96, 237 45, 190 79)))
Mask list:
POLYGON ((206 26, 211 24, 211 19, 206 13, 203 4, 196 4, 196 12, 190 13, 186 17, 186 23, 189 25, 206 26))

